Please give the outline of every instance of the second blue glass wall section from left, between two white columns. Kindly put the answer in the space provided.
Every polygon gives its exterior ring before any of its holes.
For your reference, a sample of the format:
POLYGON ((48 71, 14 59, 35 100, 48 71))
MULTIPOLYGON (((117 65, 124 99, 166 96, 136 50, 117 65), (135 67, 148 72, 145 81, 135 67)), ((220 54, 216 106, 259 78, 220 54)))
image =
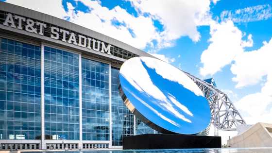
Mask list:
POLYGON ((45 139, 79 139, 79 55, 44 47, 45 139))

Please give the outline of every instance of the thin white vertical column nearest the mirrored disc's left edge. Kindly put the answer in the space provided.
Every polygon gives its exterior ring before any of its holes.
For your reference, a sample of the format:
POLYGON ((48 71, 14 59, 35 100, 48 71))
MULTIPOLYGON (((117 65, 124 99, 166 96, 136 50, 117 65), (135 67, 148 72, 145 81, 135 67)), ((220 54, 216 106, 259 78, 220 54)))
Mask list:
POLYGON ((109 148, 112 148, 112 110, 111 110, 111 64, 109 64, 109 117, 110 117, 110 120, 109 120, 109 124, 110 124, 110 143, 109 143, 109 148))

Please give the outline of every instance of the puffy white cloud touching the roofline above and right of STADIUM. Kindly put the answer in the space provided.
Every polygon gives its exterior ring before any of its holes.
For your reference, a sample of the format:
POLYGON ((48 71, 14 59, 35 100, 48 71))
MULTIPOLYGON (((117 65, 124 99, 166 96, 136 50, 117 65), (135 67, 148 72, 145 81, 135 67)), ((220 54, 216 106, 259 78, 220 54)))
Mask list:
POLYGON ((158 33, 150 17, 134 17, 119 6, 112 8, 102 7, 99 1, 79 0, 91 11, 75 11, 68 3, 69 21, 88 29, 100 32, 139 49, 152 44, 158 33), (113 24, 113 21, 119 24, 113 24))

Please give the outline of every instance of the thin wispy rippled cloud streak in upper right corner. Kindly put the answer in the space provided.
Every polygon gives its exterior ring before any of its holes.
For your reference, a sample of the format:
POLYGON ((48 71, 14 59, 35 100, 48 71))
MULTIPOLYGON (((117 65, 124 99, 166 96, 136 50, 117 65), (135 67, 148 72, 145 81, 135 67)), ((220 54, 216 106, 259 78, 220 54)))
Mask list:
POLYGON ((221 20, 232 20, 233 22, 253 22, 267 20, 272 17, 272 7, 269 4, 256 5, 237 9, 235 11, 222 11, 221 20))

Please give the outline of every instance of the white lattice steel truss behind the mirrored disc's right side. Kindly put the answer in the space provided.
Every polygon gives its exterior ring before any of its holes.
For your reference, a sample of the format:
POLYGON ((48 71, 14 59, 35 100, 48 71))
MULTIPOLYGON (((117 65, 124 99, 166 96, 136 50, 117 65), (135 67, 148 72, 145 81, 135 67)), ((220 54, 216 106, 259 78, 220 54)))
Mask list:
POLYGON ((227 94, 187 72, 185 72, 203 91, 210 104, 211 123, 219 130, 234 131, 239 124, 246 124, 227 94))

